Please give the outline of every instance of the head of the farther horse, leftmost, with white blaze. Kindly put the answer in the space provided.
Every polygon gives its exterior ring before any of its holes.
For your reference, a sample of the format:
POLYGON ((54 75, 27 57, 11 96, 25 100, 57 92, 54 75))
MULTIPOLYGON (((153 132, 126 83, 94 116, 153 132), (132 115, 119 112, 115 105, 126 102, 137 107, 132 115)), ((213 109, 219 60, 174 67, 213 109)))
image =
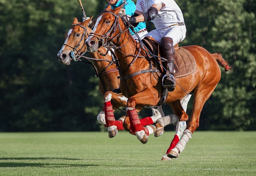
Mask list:
POLYGON ((84 21, 78 22, 77 18, 74 18, 72 26, 69 31, 65 34, 65 42, 59 53, 57 54, 59 62, 61 64, 69 65, 72 59, 76 59, 76 56, 85 52, 85 40, 88 34, 92 31, 88 24, 93 17, 84 21))

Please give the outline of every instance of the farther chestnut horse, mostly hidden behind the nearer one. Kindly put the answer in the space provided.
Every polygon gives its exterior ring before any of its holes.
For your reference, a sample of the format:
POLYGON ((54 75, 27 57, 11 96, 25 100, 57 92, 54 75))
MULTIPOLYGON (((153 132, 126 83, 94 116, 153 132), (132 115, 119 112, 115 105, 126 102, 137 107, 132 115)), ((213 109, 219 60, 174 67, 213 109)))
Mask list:
MULTIPOLYGON (((90 22, 90 20, 91 19, 88 19, 85 22, 81 23, 81 22, 78 22, 77 18, 74 18, 72 26, 70 27, 69 31, 65 34, 66 41, 58 53, 59 62, 61 64, 65 64, 65 65, 70 64, 70 61, 72 60, 72 57, 70 57, 70 55, 71 55, 70 53, 72 52, 72 50, 74 50, 74 48, 76 46, 78 46, 78 44, 79 44, 79 46, 76 48, 76 50, 78 50, 78 51, 80 50, 80 53, 86 51, 86 46, 84 45, 83 39, 87 39, 87 37, 88 37, 87 32, 88 33, 92 32, 92 30, 88 27, 88 23, 90 22), (87 31, 87 32, 85 33, 85 31, 87 31), (84 38, 82 38, 83 33, 85 33, 84 38)), ((80 53, 78 53, 78 55, 80 55, 80 53)), ((126 103, 127 103, 126 97, 124 97, 120 94, 112 93, 113 89, 119 87, 119 79, 117 79, 117 76, 119 75, 119 73, 115 71, 116 70, 115 65, 109 66, 108 61, 112 61, 111 53, 107 52, 107 49, 105 47, 100 47, 97 50, 97 52, 89 53, 89 54, 92 58, 100 59, 100 60, 94 61, 94 65, 95 65, 97 71, 99 72, 100 93, 102 95, 104 95, 107 91, 108 92, 106 94, 111 93, 111 95, 112 95, 111 101, 112 101, 114 110, 119 107, 126 106, 126 103), (107 53, 107 54, 102 54, 102 53, 107 53), (108 60, 108 61, 102 61, 102 60, 108 60)), ((182 100, 182 102, 183 102, 182 106, 185 109, 185 111, 187 109, 187 104, 188 104, 189 99, 190 99, 190 96, 188 96, 188 97, 186 97, 186 99, 182 100)), ((160 111, 161 115, 164 116, 161 107, 158 108, 158 110, 160 111)), ((154 115, 156 116, 156 114, 158 114, 158 111, 156 109, 152 109, 152 111, 153 111, 153 116, 154 115)), ((99 123, 106 125, 105 113, 104 113, 103 109, 97 116, 97 120, 99 121, 99 123)), ((120 120, 123 120, 123 119, 120 118, 120 120)), ((118 130, 123 129, 122 127, 120 127, 120 124, 122 124, 121 121, 116 121, 115 123, 117 125, 119 125, 118 130)), ((170 149, 172 149, 175 146, 175 143, 178 142, 179 138, 182 136, 182 133, 185 129, 186 129, 186 122, 178 122, 177 123, 175 137, 174 137, 173 141, 171 142, 170 147, 168 148, 167 151, 169 151, 170 149)), ((114 136, 110 132, 109 136, 111 136, 111 135, 114 136)), ((162 160, 169 160, 169 158, 166 156, 163 156, 162 160)))

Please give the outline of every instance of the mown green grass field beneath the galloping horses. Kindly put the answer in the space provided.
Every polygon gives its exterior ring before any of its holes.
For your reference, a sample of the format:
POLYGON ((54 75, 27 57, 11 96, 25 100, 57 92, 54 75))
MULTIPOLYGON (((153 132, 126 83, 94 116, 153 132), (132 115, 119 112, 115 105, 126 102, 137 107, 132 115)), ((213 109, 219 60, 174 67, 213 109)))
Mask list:
POLYGON ((256 175, 256 132, 196 131, 177 160, 161 161, 173 136, 0 133, 0 175, 256 175))

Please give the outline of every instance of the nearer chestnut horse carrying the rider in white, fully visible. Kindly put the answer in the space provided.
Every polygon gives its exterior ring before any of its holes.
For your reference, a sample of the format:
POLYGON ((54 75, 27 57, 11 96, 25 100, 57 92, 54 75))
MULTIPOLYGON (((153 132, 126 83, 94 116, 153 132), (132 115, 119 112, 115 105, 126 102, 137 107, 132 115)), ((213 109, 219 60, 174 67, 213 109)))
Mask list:
MULTIPOLYGON (((120 89, 124 96, 129 97, 123 126, 131 133, 135 133, 142 143, 146 143, 150 131, 143 128, 140 121, 138 121, 136 109, 141 109, 144 106, 157 106, 162 93, 162 79, 160 75, 153 72, 134 74, 141 72, 141 70, 157 69, 157 65, 149 61, 146 50, 130 36, 127 30, 128 23, 121 19, 118 15, 119 11, 120 8, 112 10, 110 6, 107 6, 105 11, 99 15, 93 32, 86 40, 87 50, 96 52, 99 46, 102 45, 115 49, 116 58, 119 59, 120 78, 122 78, 120 89)), ((192 133, 199 126, 200 113, 204 103, 221 78, 221 71, 216 58, 206 49, 200 46, 186 46, 183 48, 195 57, 196 70, 187 76, 177 78, 178 86, 175 87, 173 92, 168 93, 166 103, 170 105, 174 112, 174 115, 168 116, 168 124, 176 122, 176 118, 179 121, 188 120, 188 115, 180 101, 188 95, 187 93, 194 93, 194 101, 191 118, 184 134, 176 146, 167 154, 170 158, 177 158, 179 153, 184 150, 192 133)), ((227 66, 226 69, 231 69, 231 67, 227 66)), ((163 130, 163 126, 161 123, 156 123, 157 130, 163 130)))

